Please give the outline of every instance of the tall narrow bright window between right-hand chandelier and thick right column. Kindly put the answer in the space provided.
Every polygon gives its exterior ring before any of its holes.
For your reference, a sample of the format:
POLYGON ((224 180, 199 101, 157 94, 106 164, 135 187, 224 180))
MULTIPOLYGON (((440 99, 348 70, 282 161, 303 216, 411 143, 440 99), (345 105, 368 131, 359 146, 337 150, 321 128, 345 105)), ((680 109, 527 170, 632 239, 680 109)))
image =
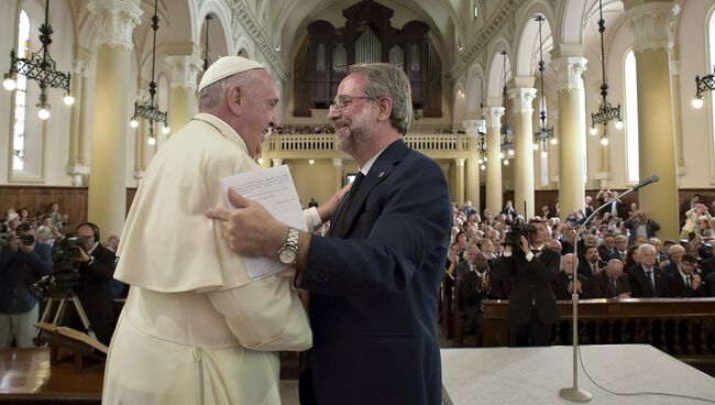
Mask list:
POLYGON ((624 85, 626 91, 626 165, 629 183, 638 183, 638 88, 636 86, 636 55, 626 54, 624 85))

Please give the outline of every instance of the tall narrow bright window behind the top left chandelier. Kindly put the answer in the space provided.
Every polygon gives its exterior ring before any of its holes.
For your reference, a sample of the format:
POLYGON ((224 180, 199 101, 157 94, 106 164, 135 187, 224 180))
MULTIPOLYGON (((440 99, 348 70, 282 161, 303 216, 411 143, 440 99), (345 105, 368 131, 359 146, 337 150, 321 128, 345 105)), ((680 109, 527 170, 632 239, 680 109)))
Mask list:
MULTIPOLYGON (((30 56, 30 18, 24 10, 20 10, 18 24, 18 57, 30 56)), ((12 169, 25 168, 25 117, 28 113, 28 78, 18 75, 14 94, 14 114, 12 125, 12 169)))

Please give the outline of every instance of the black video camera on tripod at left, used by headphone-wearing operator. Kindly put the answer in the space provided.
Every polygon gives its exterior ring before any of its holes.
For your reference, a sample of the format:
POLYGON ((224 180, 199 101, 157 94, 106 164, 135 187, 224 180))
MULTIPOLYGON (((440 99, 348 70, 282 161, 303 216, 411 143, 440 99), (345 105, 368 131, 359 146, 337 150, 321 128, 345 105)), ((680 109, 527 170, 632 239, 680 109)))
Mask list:
POLYGON ((82 249, 81 245, 87 239, 70 237, 55 241, 52 248, 52 274, 31 285, 30 292, 38 297, 65 297, 73 294, 74 288, 81 285, 78 249, 82 249))

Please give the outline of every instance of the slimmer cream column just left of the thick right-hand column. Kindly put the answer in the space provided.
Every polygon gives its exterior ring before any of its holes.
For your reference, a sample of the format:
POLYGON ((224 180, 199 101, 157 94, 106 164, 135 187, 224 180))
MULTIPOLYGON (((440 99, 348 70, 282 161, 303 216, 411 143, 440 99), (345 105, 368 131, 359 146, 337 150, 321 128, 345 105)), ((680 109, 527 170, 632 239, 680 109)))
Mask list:
POLYGON ((551 55, 559 91, 559 202, 561 219, 583 208, 585 197, 584 134, 586 131, 585 92, 582 74, 587 61, 583 47, 561 45, 551 55))

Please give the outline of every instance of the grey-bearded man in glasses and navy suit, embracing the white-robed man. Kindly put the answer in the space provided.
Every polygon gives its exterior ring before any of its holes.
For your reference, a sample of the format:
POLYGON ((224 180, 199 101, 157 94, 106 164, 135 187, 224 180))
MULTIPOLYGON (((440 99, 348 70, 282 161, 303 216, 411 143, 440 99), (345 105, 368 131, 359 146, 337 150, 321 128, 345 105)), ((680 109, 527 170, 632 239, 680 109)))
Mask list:
POLYGON ((301 404, 438 405, 437 302, 452 214, 441 168, 402 140, 409 80, 397 66, 352 66, 328 118, 337 147, 362 174, 328 237, 298 232, 232 191, 235 209, 207 215, 229 221, 239 254, 278 252, 297 270, 296 286, 310 293, 314 346, 301 404))

